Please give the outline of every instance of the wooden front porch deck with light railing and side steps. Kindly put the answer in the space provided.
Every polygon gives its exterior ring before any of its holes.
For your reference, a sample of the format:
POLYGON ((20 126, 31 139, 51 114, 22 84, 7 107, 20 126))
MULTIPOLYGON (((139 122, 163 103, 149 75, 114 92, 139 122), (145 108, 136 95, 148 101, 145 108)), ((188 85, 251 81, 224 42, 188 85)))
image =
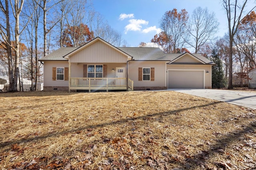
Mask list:
MULTIPOLYGON (((126 78, 86 78, 71 77, 70 90, 126 90, 126 78)), ((128 78, 128 90, 133 90, 133 81, 128 78)))

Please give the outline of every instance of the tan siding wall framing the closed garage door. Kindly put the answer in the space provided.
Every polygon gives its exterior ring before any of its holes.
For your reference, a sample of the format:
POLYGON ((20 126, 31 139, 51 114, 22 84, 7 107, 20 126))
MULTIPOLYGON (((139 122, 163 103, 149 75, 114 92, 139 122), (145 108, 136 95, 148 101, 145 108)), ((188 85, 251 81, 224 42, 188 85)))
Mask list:
MULTIPOLYGON (((167 65, 166 70, 205 70, 205 87, 212 86, 212 66, 211 65, 167 65), (206 73, 208 71, 209 73, 206 73)), ((167 77, 166 77, 167 78, 167 77)))

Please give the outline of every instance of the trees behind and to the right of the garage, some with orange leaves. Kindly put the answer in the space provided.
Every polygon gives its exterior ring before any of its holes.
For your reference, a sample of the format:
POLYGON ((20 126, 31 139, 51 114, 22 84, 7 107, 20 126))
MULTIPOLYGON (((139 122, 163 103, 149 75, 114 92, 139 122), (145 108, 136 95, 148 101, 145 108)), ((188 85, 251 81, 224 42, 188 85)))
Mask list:
MULTIPOLYGON (((198 7, 189 16, 186 9, 178 12, 174 8, 164 13, 160 20, 162 32, 156 34, 151 42, 158 44, 165 53, 184 53, 193 49, 192 53, 202 53, 205 57, 222 62, 228 89, 233 88, 233 77, 239 78, 242 86, 244 80, 248 80, 246 73, 256 67, 255 6, 245 10, 247 2, 248 0, 221 1, 228 20, 224 37, 215 36, 219 24, 214 12, 198 7)), ((146 43, 142 42, 139 46, 145 47, 146 43)), ((225 82, 222 79, 221 82, 225 82)))

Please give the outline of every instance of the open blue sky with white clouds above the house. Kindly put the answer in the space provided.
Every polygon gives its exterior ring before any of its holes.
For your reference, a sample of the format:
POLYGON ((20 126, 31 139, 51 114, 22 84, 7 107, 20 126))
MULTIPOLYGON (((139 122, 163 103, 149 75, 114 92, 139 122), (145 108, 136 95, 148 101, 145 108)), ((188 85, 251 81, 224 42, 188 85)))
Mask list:
POLYGON ((220 23, 216 36, 228 32, 226 14, 220 0, 92 0, 92 4, 112 28, 122 33, 130 47, 136 47, 140 42, 150 42, 159 33, 159 21, 164 13, 173 8, 178 12, 186 9, 191 15, 198 6, 207 7, 215 13, 220 23))

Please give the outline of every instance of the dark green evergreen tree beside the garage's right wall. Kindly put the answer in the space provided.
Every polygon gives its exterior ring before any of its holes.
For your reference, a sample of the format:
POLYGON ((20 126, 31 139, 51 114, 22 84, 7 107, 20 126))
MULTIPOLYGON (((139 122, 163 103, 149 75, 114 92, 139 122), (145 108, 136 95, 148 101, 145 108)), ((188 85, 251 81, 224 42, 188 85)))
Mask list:
POLYGON ((227 81, 224 78, 224 71, 222 68, 222 61, 219 58, 218 50, 212 49, 212 62, 216 65, 212 66, 212 88, 224 88, 226 87, 227 81))

